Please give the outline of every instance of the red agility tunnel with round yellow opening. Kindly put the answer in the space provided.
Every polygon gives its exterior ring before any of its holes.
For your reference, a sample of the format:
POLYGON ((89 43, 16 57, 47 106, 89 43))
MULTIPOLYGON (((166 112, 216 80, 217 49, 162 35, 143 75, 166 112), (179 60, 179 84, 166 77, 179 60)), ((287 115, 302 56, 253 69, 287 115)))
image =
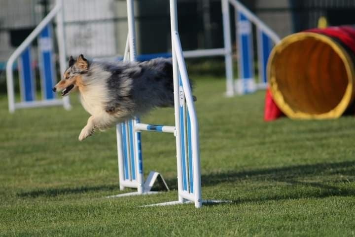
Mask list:
MULTIPOLYGON (((354 102, 354 67, 354 27, 312 29, 290 35, 274 47, 269 57, 267 74, 272 98, 289 118, 339 118, 354 102)), ((266 115, 270 108, 265 109, 266 115)))

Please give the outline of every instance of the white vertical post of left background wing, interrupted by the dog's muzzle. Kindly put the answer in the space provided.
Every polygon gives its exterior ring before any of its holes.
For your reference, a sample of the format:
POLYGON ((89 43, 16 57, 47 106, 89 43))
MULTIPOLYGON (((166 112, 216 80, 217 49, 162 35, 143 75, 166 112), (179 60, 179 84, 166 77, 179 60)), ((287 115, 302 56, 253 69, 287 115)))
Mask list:
MULTIPOLYGON (((58 40, 58 52, 59 52, 59 65, 60 65, 60 75, 66 70, 66 45, 65 45, 65 32, 64 32, 64 2, 63 0, 57 0, 57 5, 61 6, 61 10, 58 12, 57 21, 57 40, 58 40)), ((71 104, 69 96, 63 98, 64 108, 66 110, 71 109, 71 104)))

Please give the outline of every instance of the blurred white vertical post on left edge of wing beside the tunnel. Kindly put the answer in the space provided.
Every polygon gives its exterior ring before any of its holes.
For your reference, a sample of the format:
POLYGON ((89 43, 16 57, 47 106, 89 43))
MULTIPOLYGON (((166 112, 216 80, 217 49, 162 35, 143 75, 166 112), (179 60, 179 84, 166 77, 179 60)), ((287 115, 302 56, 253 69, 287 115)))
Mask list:
POLYGON ((229 23, 229 5, 228 0, 221 0, 222 3, 222 19, 223 19, 223 40, 225 48, 225 70, 226 70, 226 96, 234 96, 234 79, 233 79, 233 61, 232 61, 232 42, 229 23))

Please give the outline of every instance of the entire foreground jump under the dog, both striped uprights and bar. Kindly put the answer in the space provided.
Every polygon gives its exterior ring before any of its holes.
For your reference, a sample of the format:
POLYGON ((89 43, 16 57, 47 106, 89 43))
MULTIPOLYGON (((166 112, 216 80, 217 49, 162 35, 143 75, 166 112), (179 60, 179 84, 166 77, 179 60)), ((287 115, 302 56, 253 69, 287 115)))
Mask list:
MULTIPOLYGON (((128 43, 126 44, 125 60, 136 59, 136 42, 134 27, 133 0, 127 0, 128 13, 128 43)), ((141 131, 156 131, 173 133, 176 137, 177 169, 178 169, 178 201, 158 203, 153 205, 170 205, 194 202, 195 207, 202 206, 201 198, 201 168, 199 152, 198 121, 182 55, 178 36, 177 3, 170 0, 172 60, 174 77, 175 126, 152 125, 140 123, 133 119, 117 124, 117 151, 120 189, 136 188, 137 192, 110 197, 151 194, 155 178, 159 173, 150 172, 144 181, 141 131)), ((161 177, 161 176, 160 176, 161 177)), ((164 179, 160 179, 166 186, 164 179)), ((166 186, 167 187, 167 186, 166 186)), ((167 188, 168 189, 168 188, 167 188)))

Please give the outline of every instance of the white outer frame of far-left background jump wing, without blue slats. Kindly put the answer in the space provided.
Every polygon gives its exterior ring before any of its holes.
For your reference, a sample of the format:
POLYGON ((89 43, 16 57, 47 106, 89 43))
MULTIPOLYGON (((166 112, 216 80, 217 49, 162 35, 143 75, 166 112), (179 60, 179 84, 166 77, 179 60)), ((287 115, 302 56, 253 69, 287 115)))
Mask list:
POLYGON ((14 113, 15 109, 20 108, 31 108, 31 107, 42 107, 42 106, 54 106, 63 105, 65 109, 70 109, 71 105, 69 102, 69 97, 64 97, 63 99, 53 99, 53 100, 41 100, 41 101, 30 101, 30 102, 15 102, 15 91, 14 91, 14 80, 13 80, 13 65, 15 60, 21 55, 21 53, 36 40, 36 37, 41 33, 41 31, 52 21, 55 17, 57 20, 57 40, 59 47, 59 57, 60 57, 60 69, 64 72, 66 69, 66 53, 65 53, 65 43, 64 43, 64 27, 63 27, 63 0, 56 0, 54 8, 44 17, 44 19, 37 25, 34 31, 24 40, 18 48, 11 54, 10 58, 6 63, 6 84, 7 84, 7 98, 8 98, 8 109, 10 113, 14 113))

